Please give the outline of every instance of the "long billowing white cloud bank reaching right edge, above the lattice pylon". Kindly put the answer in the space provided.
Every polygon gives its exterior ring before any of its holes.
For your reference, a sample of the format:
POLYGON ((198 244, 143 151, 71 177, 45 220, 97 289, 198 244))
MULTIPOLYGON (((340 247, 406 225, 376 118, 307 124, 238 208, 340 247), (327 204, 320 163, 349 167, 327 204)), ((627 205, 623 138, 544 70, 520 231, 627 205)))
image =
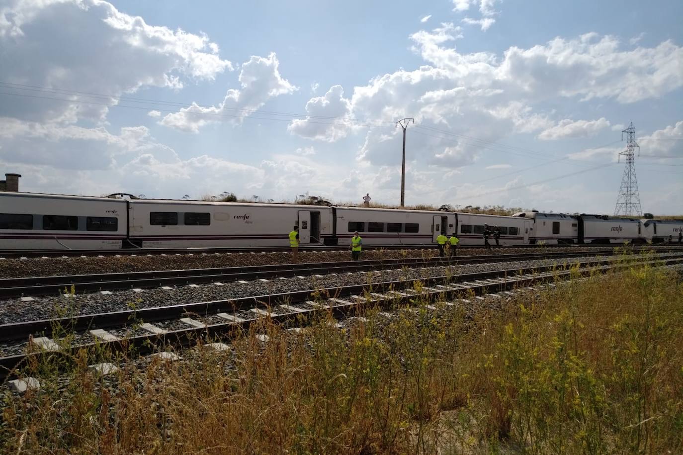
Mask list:
POLYGON ((583 101, 613 98, 621 103, 657 98, 683 86, 683 47, 671 41, 622 51, 617 38, 586 33, 529 49, 513 46, 499 59, 490 53, 460 54, 443 46, 459 38, 458 31, 445 24, 411 36, 415 50, 447 72, 454 86, 500 88, 510 99, 529 101, 561 96, 583 101))

